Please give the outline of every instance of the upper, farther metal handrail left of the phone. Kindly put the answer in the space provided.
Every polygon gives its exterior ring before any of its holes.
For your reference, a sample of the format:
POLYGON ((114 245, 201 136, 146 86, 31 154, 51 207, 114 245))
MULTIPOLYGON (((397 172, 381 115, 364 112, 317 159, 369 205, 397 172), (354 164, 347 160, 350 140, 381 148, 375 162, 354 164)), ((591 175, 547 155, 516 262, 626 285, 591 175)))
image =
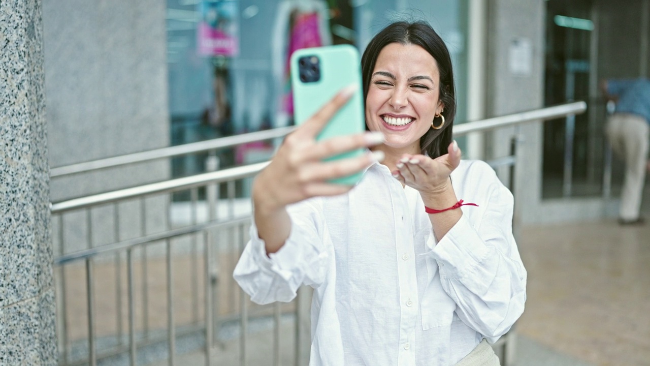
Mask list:
POLYGON ((172 158, 174 156, 181 156, 193 154, 196 152, 204 152, 209 150, 216 150, 218 148, 233 147, 244 143, 252 143, 255 141, 263 141, 268 139, 275 139, 283 137, 294 130, 294 126, 274 128, 272 130, 264 130, 258 132, 251 132, 249 134, 234 135, 228 137, 220 137, 218 139, 211 139, 206 141, 199 141, 197 143, 188 143, 184 145, 157 148, 155 150, 148 150, 142 152, 135 152, 133 154, 113 156, 111 158, 92 160, 90 162, 76 163, 72 165, 64 165, 62 167, 55 167, 50 169, 50 178, 57 176, 72 175, 77 173, 86 173, 99 169, 106 169, 109 167, 117 167, 120 165, 132 163, 144 163, 151 160, 158 160, 162 158, 172 158))

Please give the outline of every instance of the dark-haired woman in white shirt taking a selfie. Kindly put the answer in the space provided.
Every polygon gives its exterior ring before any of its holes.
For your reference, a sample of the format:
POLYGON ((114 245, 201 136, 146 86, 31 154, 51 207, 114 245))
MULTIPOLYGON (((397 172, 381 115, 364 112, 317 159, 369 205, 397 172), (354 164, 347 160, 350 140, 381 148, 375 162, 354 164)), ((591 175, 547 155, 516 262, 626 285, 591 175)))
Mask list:
POLYGON ((447 47, 425 23, 393 23, 361 68, 369 132, 315 141, 344 90, 285 139, 253 184, 235 279, 257 303, 315 288, 310 365, 498 365, 482 340, 523 312, 526 272, 512 194, 452 142, 447 47), (372 152, 321 162, 359 147, 372 152), (363 169, 354 188, 327 182, 363 169))

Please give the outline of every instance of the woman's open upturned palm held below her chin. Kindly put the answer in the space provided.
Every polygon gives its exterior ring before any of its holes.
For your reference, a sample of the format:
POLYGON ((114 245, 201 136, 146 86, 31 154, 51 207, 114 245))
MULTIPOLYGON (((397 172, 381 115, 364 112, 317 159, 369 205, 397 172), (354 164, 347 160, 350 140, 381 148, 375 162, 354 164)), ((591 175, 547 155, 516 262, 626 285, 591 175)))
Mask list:
POLYGON ((447 147, 447 154, 435 159, 405 154, 397 163, 397 170, 391 173, 402 184, 415 188, 422 196, 435 196, 451 187, 449 175, 460 164, 460 156, 460 148, 454 141, 447 147))

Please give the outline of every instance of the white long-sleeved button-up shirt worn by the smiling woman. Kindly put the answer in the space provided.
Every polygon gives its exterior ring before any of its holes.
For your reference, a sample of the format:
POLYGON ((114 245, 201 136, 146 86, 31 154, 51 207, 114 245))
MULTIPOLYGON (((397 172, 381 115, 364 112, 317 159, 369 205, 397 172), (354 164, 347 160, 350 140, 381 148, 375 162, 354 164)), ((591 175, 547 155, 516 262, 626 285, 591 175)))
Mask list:
POLYGON ((453 365, 496 341, 524 309, 513 197, 484 162, 452 173, 463 216, 437 242, 418 191, 372 165, 345 195, 289 206, 268 257, 255 225, 234 277, 253 302, 315 289, 309 365, 453 365))

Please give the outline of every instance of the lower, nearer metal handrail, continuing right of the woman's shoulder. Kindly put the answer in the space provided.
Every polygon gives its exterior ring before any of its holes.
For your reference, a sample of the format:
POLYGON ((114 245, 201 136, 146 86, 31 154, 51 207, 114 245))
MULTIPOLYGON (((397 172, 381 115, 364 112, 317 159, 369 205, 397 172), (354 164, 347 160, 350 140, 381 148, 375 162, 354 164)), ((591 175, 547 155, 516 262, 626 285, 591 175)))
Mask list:
MULTIPOLYGON (((454 136, 466 135, 471 132, 492 130, 494 128, 510 126, 523 122, 530 122, 533 120, 555 119, 558 117, 563 117, 565 115, 582 113, 586 111, 586 109, 587 104, 585 102, 573 102, 562 104, 560 106, 545 107, 541 109, 534 109, 532 111, 513 113, 512 115, 478 120, 475 122, 467 122, 465 124, 454 126, 454 136)), ((96 204, 116 202, 122 199, 140 197, 152 193, 177 191, 186 188, 203 186, 207 183, 220 183, 237 178, 246 178, 248 176, 257 174, 259 171, 264 169, 267 164, 268 162, 242 165, 239 167, 223 169, 221 171, 215 171, 211 173, 203 173, 199 175, 188 176, 185 178, 177 178, 166 180, 164 182, 146 184, 144 186, 138 186, 134 188, 126 188, 123 190, 110 191, 107 193, 99 193, 96 195, 90 195, 77 199, 70 199, 68 201, 51 204, 51 212, 52 214, 59 214, 60 212, 76 210, 78 208, 85 208, 94 206, 96 204)))

